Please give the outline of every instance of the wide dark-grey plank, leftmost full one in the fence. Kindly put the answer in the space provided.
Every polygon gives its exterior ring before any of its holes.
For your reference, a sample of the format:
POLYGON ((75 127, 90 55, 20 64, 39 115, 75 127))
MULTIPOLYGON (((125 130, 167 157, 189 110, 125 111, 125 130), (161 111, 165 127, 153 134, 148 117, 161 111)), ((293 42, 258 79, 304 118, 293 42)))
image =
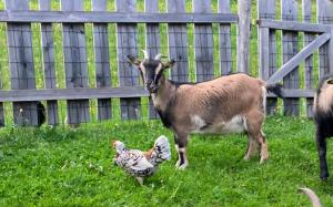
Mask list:
MULTIPOLYGON (((28 0, 6 0, 7 10, 29 10, 28 0)), ((30 23, 8 23, 7 40, 11 89, 36 89, 30 23)), ((13 103, 14 124, 38 125, 36 102, 13 103)))

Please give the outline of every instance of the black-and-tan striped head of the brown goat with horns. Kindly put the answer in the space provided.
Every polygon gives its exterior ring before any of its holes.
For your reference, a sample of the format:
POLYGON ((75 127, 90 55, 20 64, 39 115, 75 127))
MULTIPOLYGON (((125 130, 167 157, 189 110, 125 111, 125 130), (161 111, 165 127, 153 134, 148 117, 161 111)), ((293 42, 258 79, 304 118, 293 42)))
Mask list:
POLYGON ((172 68, 174 65, 174 60, 162 62, 162 54, 158 54, 154 56, 154 59, 150 59, 147 51, 142 51, 144 53, 144 59, 142 61, 131 55, 128 55, 128 59, 132 64, 138 66, 147 90, 150 93, 157 93, 160 87, 160 79, 163 74, 163 71, 172 68))

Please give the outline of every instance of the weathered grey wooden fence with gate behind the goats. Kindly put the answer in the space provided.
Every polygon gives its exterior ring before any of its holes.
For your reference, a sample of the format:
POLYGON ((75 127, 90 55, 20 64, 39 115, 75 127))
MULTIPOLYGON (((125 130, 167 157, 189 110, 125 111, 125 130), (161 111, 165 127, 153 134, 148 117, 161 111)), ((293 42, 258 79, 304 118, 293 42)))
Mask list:
MULTIPOLYGON (((139 55, 139 23, 145 24, 145 49, 150 55, 161 52, 161 24, 168 24, 168 53, 176 61, 170 79, 191 81, 189 65, 189 24, 193 24, 193 50, 195 62, 195 81, 206 81, 215 75, 214 41, 218 38, 219 74, 228 74, 235 60, 232 51, 233 24, 238 15, 231 13, 230 1, 219 0, 218 12, 212 12, 210 0, 192 0, 192 12, 185 12, 184 0, 168 0, 167 12, 159 12, 158 0, 145 0, 144 12, 137 12, 135 0, 117 0, 117 11, 107 11, 107 0, 92 0, 92 11, 84 11, 83 0, 61 0, 61 11, 51 10, 51 0, 39 0, 39 10, 29 10, 29 0, 6 0, 6 10, 0 11, 0 22, 6 22, 7 48, 10 70, 10 90, 0 91, 0 124, 4 125, 8 113, 13 114, 14 124, 39 124, 40 102, 46 101, 47 121, 50 125, 59 124, 59 101, 65 100, 67 122, 71 125, 90 122, 90 101, 97 100, 98 120, 111 120, 112 101, 120 99, 122 120, 141 118, 142 101, 148 93, 140 85, 138 70, 127 61, 127 55, 139 55), (33 37, 31 23, 40 24, 40 37, 43 61, 44 89, 36 87, 33 61, 33 37), (57 80, 57 61, 52 24, 62 25, 62 52, 65 73, 65 89, 59 89, 57 80), (93 53, 95 87, 91 89, 88 73, 85 24, 93 24, 93 53), (117 27, 117 60, 110 60, 109 41, 111 35, 108 24, 117 27), (219 25, 214 33, 213 24, 219 25), (111 63, 117 61, 117 66, 111 63), (113 71, 113 72, 112 72, 113 71), (117 87, 112 86, 112 75, 118 71, 117 87), (12 102, 12 112, 3 110, 3 102, 12 102)), ((259 28, 259 74, 270 83, 283 81, 286 114, 300 114, 300 97, 306 97, 307 115, 311 116, 315 62, 319 61, 320 75, 333 72, 333 3, 317 0, 317 21, 310 23, 312 3, 303 0, 302 22, 299 22, 299 4, 294 0, 281 0, 281 17, 278 20, 275 0, 258 0, 259 28), (282 38, 279 40, 279 31, 282 38), (304 48, 299 50, 299 33, 303 34, 304 48), (279 54, 279 45, 282 53, 279 54), (312 55, 319 50, 319 58, 312 55), (280 56, 280 58, 279 58, 280 56), (330 59, 330 56, 332 56, 330 59), (283 60, 279 70, 278 60, 283 60), (304 62, 305 72, 300 73, 299 65, 304 62), (301 76, 304 74, 304 86, 301 89, 301 76)), ((249 27, 250 29, 250 27, 249 27)), ((255 49, 256 50, 256 49, 255 49)), ((242 53, 243 54, 243 53, 242 53)), ((249 58, 248 55, 245 55, 249 58)), ((251 56, 250 56, 251 59, 251 56)), ((243 63, 242 63, 243 64, 243 63)), ((243 71, 243 70, 242 70, 243 71)), ((246 71, 245 71, 246 72, 246 71)), ((0 77, 1 79, 1 77, 0 77)), ((270 95, 269 112, 274 112, 276 97, 270 95)), ((151 103, 149 117, 155 118, 151 103)))

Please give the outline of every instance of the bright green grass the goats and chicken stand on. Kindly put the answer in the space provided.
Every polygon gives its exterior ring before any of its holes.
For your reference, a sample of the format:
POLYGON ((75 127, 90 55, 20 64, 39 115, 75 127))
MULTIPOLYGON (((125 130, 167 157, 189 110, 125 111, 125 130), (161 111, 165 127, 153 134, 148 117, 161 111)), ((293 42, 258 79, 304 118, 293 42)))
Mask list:
MULTIPOLYGON (((193 135, 186 170, 174 168, 172 148, 172 161, 140 186, 111 163, 109 141, 145 149, 164 134, 173 145, 171 131, 160 122, 90 124, 77 131, 7 127, 0 131, 0 206, 310 206, 297 193, 303 186, 333 206, 333 179, 319 179, 312 121, 269 117, 264 132, 271 153, 264 165, 259 156, 243 161, 244 135, 193 135)), ((332 164, 333 151, 327 156, 332 164)))

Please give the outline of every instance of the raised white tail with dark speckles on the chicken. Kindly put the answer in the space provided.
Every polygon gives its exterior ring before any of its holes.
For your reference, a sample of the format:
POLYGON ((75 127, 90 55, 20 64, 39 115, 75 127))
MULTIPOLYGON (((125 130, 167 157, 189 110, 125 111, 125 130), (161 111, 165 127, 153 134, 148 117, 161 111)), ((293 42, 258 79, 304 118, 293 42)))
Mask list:
POLYGON ((171 159, 170 144, 165 136, 160 136, 154 144, 154 153, 157 156, 155 163, 171 159))

